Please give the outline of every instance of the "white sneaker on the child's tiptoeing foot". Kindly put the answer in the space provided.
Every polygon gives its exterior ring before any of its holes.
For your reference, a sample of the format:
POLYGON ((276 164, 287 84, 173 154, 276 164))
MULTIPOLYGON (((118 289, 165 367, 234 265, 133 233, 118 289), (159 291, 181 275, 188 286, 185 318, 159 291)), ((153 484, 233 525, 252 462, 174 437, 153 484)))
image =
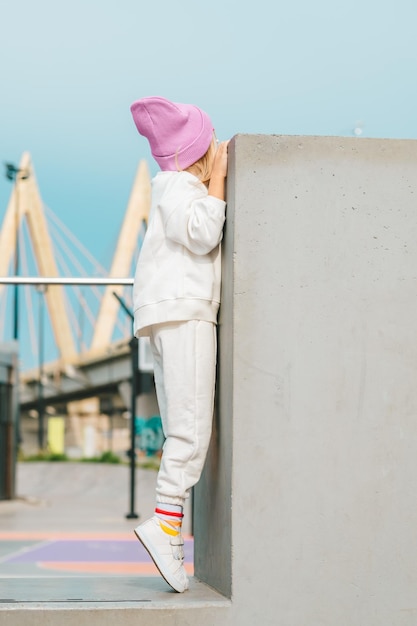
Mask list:
POLYGON ((135 535, 143 543, 167 583, 178 593, 188 589, 188 577, 184 569, 184 539, 181 533, 171 537, 162 530, 159 518, 154 515, 135 528, 135 535))

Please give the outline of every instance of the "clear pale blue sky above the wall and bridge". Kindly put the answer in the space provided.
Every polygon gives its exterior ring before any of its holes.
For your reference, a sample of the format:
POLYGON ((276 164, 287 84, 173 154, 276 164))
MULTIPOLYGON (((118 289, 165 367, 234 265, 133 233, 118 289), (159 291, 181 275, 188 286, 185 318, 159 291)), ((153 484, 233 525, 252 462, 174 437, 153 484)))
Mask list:
MULTIPOLYGON (((417 138, 415 0, 19 0, 0 14, 0 160, 109 266, 151 161, 137 98, 193 102, 217 135, 417 138)), ((360 139, 358 139, 360 140, 360 139)), ((0 177, 0 223, 10 182, 0 177)))

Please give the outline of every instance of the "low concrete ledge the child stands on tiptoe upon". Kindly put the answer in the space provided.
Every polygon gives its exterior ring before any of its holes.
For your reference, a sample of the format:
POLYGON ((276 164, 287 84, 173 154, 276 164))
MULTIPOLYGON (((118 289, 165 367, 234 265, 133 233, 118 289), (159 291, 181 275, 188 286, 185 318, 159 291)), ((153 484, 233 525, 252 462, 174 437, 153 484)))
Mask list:
POLYGON ((227 623, 230 600, 195 578, 170 591, 159 577, 9 578, 0 582, 0 625, 153 626, 162 619, 209 626, 227 623), (174 617, 175 615, 175 617, 174 617))

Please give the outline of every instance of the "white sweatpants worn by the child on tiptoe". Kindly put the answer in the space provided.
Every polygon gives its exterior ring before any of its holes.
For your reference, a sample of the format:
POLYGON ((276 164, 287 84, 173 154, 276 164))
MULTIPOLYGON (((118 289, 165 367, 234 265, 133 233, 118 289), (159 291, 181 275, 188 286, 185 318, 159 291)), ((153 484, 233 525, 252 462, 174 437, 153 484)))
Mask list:
POLYGON ((210 443, 217 337, 212 322, 152 326, 155 387, 166 437, 158 502, 183 504, 199 480, 210 443))

